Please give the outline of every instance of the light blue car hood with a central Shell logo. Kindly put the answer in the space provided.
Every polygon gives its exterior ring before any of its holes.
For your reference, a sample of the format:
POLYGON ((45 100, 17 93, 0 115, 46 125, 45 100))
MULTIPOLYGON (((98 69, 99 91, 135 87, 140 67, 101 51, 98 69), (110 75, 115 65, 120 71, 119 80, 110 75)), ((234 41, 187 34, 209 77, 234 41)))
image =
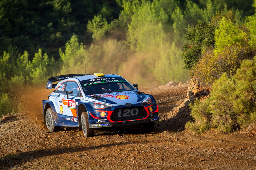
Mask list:
POLYGON ((124 91, 124 92, 113 92, 104 93, 98 95, 88 95, 88 97, 96 99, 98 101, 110 104, 124 105, 126 103, 141 103, 147 98, 144 93, 140 91, 124 91))

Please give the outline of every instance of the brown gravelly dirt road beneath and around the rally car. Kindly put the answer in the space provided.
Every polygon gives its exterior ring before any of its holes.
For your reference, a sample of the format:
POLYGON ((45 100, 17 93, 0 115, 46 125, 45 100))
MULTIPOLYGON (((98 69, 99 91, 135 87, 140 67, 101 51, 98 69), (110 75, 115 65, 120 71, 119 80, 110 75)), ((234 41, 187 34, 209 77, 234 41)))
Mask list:
POLYGON ((184 102, 187 87, 143 90, 159 104, 155 132, 145 134, 140 125, 113 127, 91 138, 72 128, 49 132, 43 124, 42 100, 51 90, 30 89, 36 95, 23 101, 28 109, 0 119, 0 168, 256 169, 255 135, 180 131, 184 121, 173 110, 184 102))

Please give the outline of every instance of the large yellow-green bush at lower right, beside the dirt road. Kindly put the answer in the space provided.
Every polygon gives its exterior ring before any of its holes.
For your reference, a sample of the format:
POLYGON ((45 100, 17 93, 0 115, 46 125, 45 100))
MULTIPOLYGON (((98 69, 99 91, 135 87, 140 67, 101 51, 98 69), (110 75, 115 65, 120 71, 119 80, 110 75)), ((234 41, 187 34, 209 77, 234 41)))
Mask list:
POLYGON ((209 128, 217 128, 228 133, 237 127, 245 129, 255 121, 256 56, 253 60, 243 60, 231 78, 223 74, 212 86, 212 92, 204 102, 191 106, 191 116, 195 122, 186 127, 196 133, 209 128), (203 124, 210 126, 205 128, 203 124))

